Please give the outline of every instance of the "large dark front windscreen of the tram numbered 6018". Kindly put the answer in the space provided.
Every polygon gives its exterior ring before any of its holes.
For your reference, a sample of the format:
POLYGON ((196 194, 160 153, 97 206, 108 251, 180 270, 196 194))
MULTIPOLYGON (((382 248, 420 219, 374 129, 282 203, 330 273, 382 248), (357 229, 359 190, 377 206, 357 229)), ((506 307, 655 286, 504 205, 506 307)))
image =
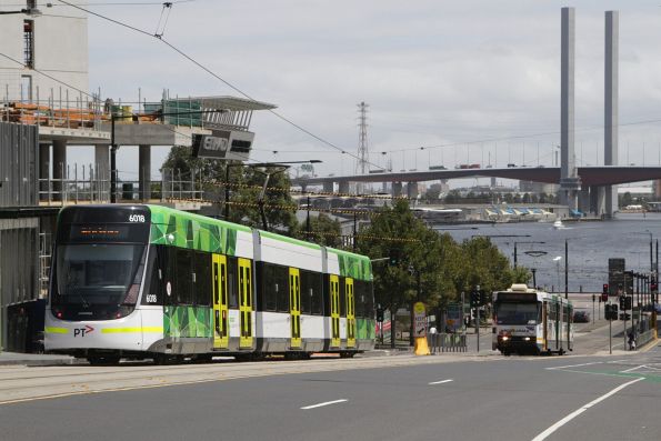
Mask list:
MULTIPOLYGON (((53 304, 116 309, 137 300, 143 244, 82 243, 57 249, 57 292, 53 304), (134 299, 133 299, 134 298, 134 299)), ((77 308, 78 309, 78 308, 77 308)))

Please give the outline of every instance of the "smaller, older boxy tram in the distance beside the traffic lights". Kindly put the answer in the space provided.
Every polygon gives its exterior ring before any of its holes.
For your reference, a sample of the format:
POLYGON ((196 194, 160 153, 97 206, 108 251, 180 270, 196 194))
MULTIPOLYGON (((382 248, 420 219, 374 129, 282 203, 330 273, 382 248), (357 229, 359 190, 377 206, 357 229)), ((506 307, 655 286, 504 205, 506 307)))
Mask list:
POLYGON ((492 349, 504 355, 573 350, 573 305, 561 295, 512 284, 493 293, 492 349))

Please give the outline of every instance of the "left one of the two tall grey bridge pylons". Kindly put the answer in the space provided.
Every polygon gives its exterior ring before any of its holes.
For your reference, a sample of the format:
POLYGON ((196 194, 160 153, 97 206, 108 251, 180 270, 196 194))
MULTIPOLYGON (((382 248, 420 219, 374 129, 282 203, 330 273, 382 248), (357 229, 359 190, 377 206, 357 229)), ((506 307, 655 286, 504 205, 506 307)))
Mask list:
POLYGON ((574 156, 574 9, 562 8, 560 60, 560 203, 577 209, 581 182, 574 156))

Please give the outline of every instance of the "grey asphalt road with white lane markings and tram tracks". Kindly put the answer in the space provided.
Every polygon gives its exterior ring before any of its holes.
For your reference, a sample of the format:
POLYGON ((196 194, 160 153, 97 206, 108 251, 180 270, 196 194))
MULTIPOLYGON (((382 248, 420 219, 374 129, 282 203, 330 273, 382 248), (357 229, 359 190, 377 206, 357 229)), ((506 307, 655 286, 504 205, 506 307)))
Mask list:
POLYGON ((649 441, 661 439, 660 399, 658 347, 617 357, 7 368, 0 438, 649 441))

